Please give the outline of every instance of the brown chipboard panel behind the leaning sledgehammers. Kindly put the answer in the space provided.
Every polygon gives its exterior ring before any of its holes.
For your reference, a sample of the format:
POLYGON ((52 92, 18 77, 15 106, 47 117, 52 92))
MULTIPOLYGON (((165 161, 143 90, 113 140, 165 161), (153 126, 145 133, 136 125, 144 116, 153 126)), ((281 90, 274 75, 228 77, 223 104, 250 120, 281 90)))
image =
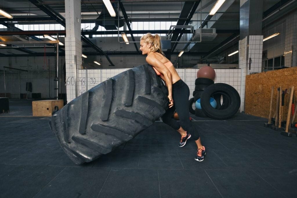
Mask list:
MULTIPOLYGON (((268 118, 270 108, 271 87, 274 86, 274 98, 272 102, 272 115, 276 110, 277 88, 282 86, 290 92, 294 86, 294 104, 297 103, 297 67, 278 69, 259 74, 246 76, 245 88, 245 113, 268 118)), ((285 106, 283 120, 287 119, 290 94, 285 94, 285 106)), ((295 118, 297 122, 297 118, 295 118)))

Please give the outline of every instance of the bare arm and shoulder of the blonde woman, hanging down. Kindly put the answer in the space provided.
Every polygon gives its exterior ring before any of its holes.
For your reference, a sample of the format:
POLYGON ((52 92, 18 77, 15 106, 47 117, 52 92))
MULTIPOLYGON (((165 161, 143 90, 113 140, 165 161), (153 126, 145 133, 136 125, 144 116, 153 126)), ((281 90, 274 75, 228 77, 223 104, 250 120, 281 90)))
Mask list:
POLYGON ((173 99, 172 99, 172 78, 171 78, 171 72, 169 69, 161 62, 159 61, 154 54, 149 54, 146 57, 146 62, 150 64, 151 66, 154 66, 161 74, 163 74, 165 83, 168 88, 168 99, 169 99, 169 108, 173 106, 173 99))

